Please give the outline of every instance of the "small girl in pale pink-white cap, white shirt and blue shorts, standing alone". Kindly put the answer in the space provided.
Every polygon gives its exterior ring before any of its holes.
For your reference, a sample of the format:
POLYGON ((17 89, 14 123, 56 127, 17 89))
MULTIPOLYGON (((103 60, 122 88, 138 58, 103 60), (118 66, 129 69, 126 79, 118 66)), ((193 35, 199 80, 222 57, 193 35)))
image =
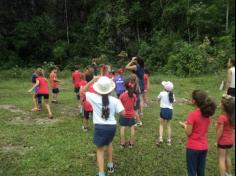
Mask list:
POLYGON ((159 96, 158 100, 160 101, 161 113, 160 113, 160 128, 159 128, 159 141, 157 141, 157 145, 163 143, 163 130, 164 124, 167 124, 167 133, 168 139, 167 144, 171 146, 171 120, 173 116, 173 103, 175 102, 175 97, 173 94, 174 85, 172 82, 168 81, 162 82, 164 86, 164 91, 162 91, 159 96))

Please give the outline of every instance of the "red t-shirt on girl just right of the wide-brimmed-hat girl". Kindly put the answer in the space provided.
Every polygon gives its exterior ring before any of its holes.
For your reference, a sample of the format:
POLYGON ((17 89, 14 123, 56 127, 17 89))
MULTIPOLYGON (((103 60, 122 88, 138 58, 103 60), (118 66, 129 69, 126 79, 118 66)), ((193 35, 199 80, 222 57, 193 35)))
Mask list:
POLYGON ((125 92, 120 96, 120 100, 125 108, 125 118, 134 118, 136 115, 134 109, 135 104, 137 102, 136 95, 134 94, 133 97, 129 97, 128 92, 125 92))

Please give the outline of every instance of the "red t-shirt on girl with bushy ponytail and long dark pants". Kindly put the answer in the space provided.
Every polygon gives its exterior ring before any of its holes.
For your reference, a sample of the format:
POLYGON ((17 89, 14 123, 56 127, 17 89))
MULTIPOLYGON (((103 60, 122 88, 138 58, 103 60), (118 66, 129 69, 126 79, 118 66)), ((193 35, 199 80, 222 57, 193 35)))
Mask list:
POLYGON ((200 109, 189 113, 187 124, 193 126, 192 134, 188 137, 186 147, 193 150, 208 150, 207 133, 211 118, 202 116, 200 109))

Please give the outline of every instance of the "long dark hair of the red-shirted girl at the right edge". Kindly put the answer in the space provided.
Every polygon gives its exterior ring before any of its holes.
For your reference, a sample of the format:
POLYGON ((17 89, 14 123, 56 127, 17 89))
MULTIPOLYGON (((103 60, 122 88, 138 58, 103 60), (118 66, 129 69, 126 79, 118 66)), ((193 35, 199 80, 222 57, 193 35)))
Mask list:
POLYGON ((221 104, 223 110, 227 114, 230 126, 235 127, 235 98, 231 96, 223 96, 221 104))

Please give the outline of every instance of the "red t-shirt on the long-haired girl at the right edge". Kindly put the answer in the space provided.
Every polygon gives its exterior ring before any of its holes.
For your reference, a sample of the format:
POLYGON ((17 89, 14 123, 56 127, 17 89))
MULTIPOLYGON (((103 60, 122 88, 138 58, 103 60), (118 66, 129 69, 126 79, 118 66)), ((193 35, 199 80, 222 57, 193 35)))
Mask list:
POLYGON ((221 115, 218 118, 218 125, 224 125, 224 130, 221 138, 218 141, 220 145, 234 144, 234 128, 229 124, 229 119, 226 115, 221 115))

